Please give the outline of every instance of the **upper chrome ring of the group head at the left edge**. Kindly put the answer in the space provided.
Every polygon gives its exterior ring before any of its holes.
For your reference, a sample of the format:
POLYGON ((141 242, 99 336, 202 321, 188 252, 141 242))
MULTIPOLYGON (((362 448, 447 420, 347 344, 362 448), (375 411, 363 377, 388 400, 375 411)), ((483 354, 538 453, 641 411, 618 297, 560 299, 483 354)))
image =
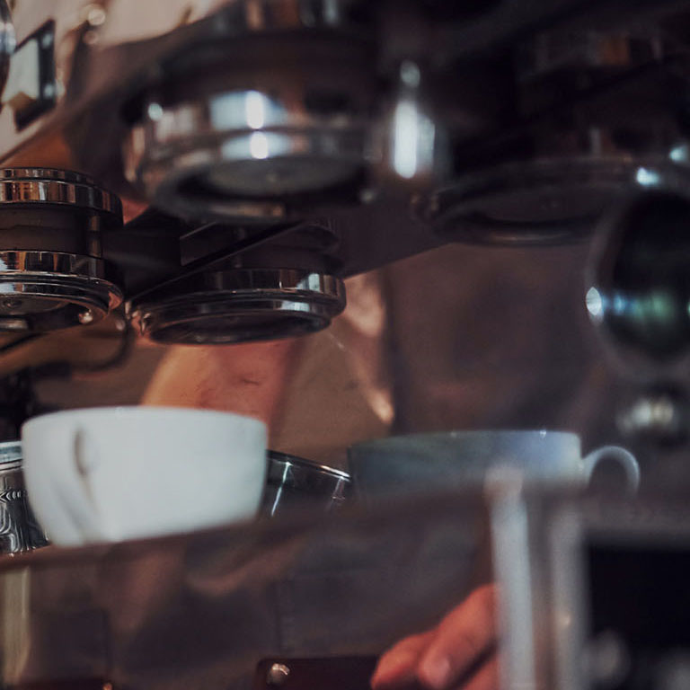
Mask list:
POLYGON ((6 204, 57 204, 122 217, 118 197, 80 173, 47 168, 0 169, 0 208, 6 204))

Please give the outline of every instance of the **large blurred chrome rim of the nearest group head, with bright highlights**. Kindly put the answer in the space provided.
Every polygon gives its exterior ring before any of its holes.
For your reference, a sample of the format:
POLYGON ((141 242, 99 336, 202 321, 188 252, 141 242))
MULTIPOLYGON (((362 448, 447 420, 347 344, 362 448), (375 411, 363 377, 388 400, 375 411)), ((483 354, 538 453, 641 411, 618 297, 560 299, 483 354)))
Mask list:
POLYGON ((190 216, 201 203, 207 214, 257 220, 284 220, 289 212, 280 199, 345 184, 376 158, 366 120, 314 116, 293 93, 241 90, 170 106, 149 102, 124 149, 128 179, 160 206, 190 216), (323 174, 271 182, 286 162, 323 174), (214 190, 217 171, 234 182, 214 190))

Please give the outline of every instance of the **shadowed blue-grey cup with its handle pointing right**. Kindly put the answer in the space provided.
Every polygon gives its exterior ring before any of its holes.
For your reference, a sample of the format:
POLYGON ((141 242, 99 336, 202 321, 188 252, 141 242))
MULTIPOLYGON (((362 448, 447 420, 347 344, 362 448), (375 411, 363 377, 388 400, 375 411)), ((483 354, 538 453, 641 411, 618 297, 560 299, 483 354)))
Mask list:
POLYGON ((630 451, 597 448, 582 456, 577 434, 546 430, 471 430, 379 438, 348 450, 360 496, 452 490, 481 484, 495 467, 519 470, 526 482, 586 484, 603 460, 621 464, 629 491, 640 482, 630 451))

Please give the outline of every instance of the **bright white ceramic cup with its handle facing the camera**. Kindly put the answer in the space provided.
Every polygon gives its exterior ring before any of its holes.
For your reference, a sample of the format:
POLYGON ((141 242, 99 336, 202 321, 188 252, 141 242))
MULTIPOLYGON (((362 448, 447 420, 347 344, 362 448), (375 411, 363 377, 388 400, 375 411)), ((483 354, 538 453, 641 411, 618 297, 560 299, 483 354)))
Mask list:
POLYGON ((31 506, 55 544, 189 532, 251 518, 266 426, 217 411, 114 407, 22 426, 31 506))

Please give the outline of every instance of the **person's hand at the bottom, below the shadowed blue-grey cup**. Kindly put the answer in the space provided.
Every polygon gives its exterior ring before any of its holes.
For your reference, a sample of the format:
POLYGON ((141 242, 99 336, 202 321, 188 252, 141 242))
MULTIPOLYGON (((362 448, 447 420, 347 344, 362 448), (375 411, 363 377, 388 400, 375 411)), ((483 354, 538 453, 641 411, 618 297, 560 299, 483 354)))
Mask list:
POLYGON ((398 642, 379 659, 374 690, 498 690, 496 587, 475 589, 433 630, 398 642))

